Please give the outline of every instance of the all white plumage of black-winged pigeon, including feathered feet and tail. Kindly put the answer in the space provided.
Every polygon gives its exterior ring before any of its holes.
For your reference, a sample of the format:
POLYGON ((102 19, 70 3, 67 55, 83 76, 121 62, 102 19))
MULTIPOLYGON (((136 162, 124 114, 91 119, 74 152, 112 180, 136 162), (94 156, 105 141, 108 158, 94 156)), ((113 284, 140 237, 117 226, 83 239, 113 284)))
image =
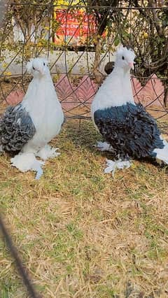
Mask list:
MULTIPOLYGON (((104 110, 113 106, 123 106, 127 103, 135 104, 130 81, 130 66, 133 66, 134 57, 135 55, 132 50, 127 50, 123 45, 120 45, 116 51, 115 67, 99 88, 92 101, 91 115, 93 122, 94 112, 97 110, 104 110)), ((161 136, 160 139, 162 139, 161 136)), ((156 153, 156 160, 158 163, 161 164, 164 162, 165 164, 168 164, 168 143, 167 141, 163 142, 164 148, 155 148, 153 152, 156 153)), ((109 150, 110 146, 108 147, 108 145, 109 144, 106 143, 99 143, 98 149, 109 150)), ((125 164, 125 161, 123 161, 122 164, 120 164, 120 162, 120 159, 114 162, 107 160, 108 167, 105 169, 105 173, 109 173, 109 171, 114 173, 116 167, 119 169, 120 166, 130 166, 130 164, 125 164)))

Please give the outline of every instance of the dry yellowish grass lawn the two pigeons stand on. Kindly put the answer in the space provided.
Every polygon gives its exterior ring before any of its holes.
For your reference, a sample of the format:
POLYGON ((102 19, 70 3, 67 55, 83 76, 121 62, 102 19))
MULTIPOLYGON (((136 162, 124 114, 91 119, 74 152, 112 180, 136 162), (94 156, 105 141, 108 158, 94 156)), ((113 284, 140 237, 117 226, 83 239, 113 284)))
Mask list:
MULTIPOLYGON (((167 169, 134 162, 105 175, 97 139, 90 122, 66 123, 38 181, 1 156, 6 225, 43 297, 167 297, 167 169)), ((0 297, 27 297, 0 246, 0 297)))

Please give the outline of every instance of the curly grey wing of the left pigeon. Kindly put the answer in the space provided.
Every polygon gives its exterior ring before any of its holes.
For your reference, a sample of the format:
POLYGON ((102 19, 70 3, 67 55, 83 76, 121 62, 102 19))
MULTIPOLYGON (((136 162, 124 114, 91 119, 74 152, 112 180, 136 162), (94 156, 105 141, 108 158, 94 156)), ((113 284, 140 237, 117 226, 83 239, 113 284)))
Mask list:
POLYGON ((35 132, 34 123, 22 104, 9 106, 0 119, 0 144, 4 151, 20 151, 35 132))

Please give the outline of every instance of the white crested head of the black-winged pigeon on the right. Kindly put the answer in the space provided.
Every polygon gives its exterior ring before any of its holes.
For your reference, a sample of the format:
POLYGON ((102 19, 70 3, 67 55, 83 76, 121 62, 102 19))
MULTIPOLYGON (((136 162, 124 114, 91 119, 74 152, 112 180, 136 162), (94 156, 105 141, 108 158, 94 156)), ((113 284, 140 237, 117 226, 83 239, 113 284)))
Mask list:
POLYGON ((134 69, 134 58, 135 54, 133 50, 120 45, 116 52, 116 66, 120 66, 125 71, 134 69))

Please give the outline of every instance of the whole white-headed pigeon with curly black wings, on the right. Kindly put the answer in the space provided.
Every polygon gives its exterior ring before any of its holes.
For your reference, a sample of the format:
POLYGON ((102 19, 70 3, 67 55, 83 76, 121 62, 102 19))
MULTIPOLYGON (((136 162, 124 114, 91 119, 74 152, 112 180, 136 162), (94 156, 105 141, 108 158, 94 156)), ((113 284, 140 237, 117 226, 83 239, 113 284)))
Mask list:
POLYGON ((167 141, 144 106, 134 102, 130 81, 134 57, 132 50, 120 45, 114 69, 92 101, 92 120, 105 141, 98 142, 97 148, 115 156, 114 161, 106 159, 105 173, 129 167, 132 157, 150 157, 168 164, 167 141))

